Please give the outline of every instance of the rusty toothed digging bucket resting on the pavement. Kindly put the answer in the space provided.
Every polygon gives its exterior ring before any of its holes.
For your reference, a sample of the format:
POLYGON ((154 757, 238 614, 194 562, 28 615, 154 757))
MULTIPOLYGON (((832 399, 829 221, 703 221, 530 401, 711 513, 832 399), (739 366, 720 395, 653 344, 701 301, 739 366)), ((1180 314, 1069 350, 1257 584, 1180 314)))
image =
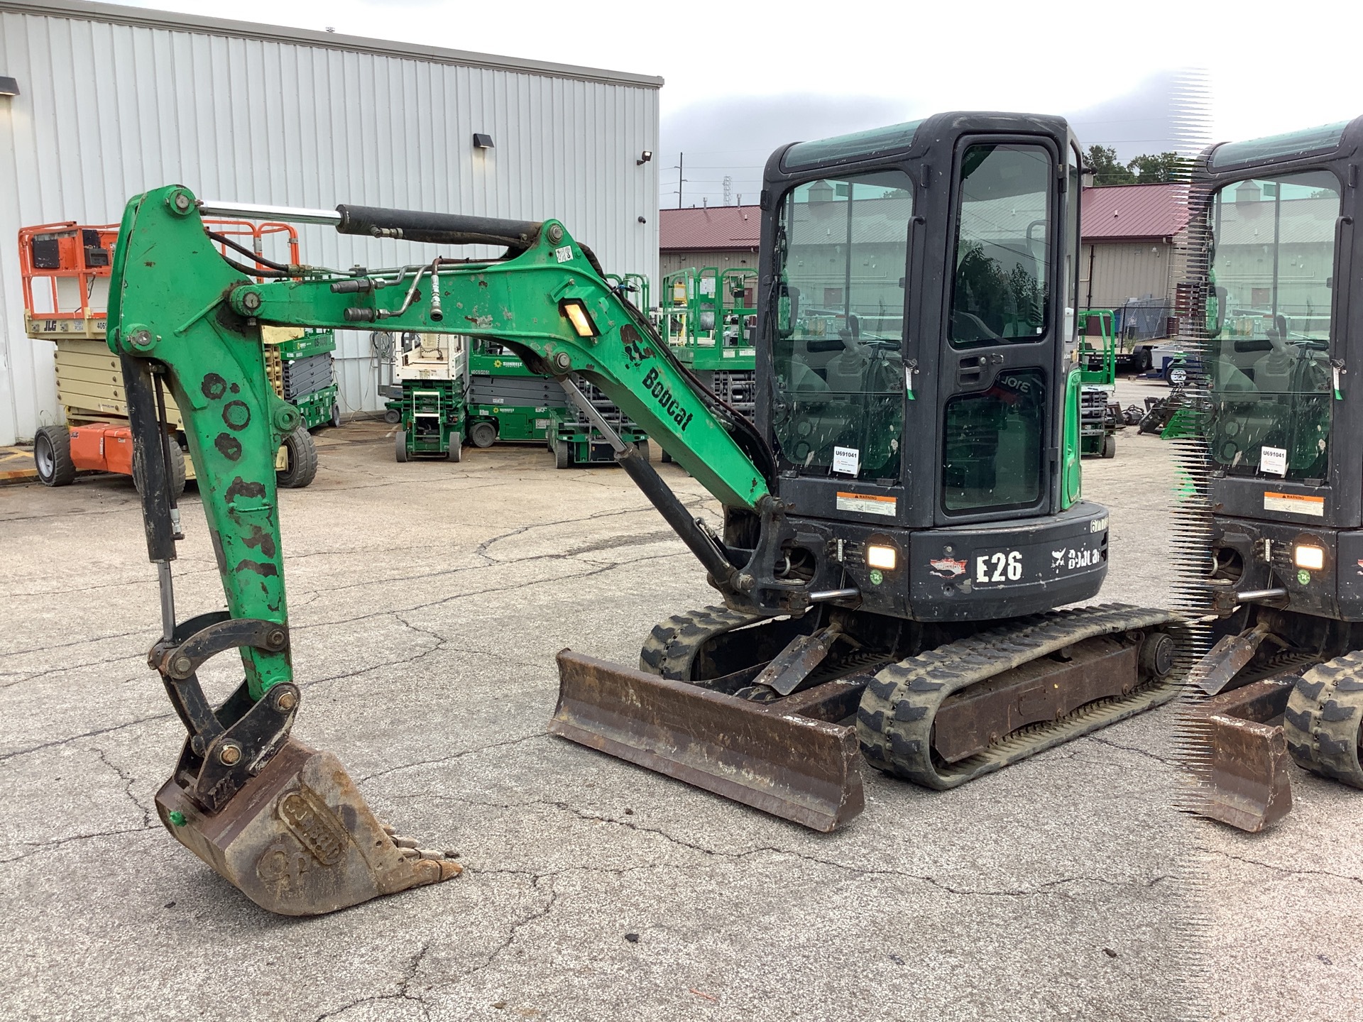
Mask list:
POLYGON ((219 812, 200 811, 174 779, 157 814, 181 845, 263 909, 318 916, 380 894, 439 883, 462 868, 402 848, 328 752, 289 739, 219 812))

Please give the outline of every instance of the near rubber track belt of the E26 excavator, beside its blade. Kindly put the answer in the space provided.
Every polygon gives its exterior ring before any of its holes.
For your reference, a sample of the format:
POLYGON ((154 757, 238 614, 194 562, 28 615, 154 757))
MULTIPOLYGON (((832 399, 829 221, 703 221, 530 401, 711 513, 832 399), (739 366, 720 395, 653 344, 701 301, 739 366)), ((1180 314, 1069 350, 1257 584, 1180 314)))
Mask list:
POLYGON ((932 721, 953 692, 1084 639, 1176 621, 1168 610, 1105 604, 1024 617, 901 660, 880 670, 861 695, 861 752, 883 773, 945 790, 1153 709, 1176 695, 1176 673, 1124 696, 1097 699, 1058 721, 1020 728, 960 763, 938 769, 932 762, 932 721))

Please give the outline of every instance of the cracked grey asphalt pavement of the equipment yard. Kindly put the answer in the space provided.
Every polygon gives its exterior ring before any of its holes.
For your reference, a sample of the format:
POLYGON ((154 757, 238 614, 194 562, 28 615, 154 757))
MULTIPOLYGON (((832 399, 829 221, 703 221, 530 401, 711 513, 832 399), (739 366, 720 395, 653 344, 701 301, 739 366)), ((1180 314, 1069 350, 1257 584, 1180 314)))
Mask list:
MULTIPOLYGON (((1134 432, 1085 463, 1112 510, 1103 595, 1165 605, 1174 471, 1134 432)), ((866 812, 806 831, 545 734, 555 653, 634 664, 714 602, 623 473, 534 447, 397 465, 379 424, 318 439, 316 482, 281 495, 294 733, 466 872, 309 920, 229 887, 151 809, 183 732, 146 666, 131 484, 0 488, 4 1018, 1363 1014, 1356 793, 1298 771, 1264 835, 1180 816, 1171 706, 954 792, 867 770, 866 812)), ((192 488, 183 510, 188 617, 222 593, 192 488)), ((239 680, 226 657, 202 677, 239 680)))

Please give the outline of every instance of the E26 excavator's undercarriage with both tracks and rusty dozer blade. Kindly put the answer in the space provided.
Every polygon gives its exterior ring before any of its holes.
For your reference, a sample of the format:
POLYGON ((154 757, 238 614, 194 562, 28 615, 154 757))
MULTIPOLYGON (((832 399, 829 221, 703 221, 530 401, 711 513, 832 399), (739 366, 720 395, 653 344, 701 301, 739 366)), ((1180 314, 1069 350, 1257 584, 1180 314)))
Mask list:
POLYGON ((549 729, 827 831, 861 809, 859 751, 947 789, 1168 702, 1178 628, 1124 605, 980 624, 711 606, 654 627, 641 670, 560 654, 549 729))

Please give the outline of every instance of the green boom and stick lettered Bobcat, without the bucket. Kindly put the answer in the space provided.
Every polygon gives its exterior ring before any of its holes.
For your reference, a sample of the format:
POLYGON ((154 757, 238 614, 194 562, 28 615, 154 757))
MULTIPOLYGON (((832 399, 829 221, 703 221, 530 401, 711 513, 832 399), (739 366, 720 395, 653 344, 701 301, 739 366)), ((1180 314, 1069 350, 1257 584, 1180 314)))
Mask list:
MULTIPOLYGON (((725 506, 762 511, 765 522, 778 512, 754 459, 687 380, 649 323, 612 290, 562 223, 356 207, 339 207, 337 221, 346 233, 500 243, 515 255, 487 263, 435 260, 424 267, 372 274, 289 267, 260 283, 217 252, 188 189, 146 192, 124 211, 108 337, 109 347, 124 356, 135 443, 143 448, 147 542, 151 559, 162 566, 164 606, 165 566, 174 556, 168 538, 172 525, 166 508, 158 504, 159 477, 146 467, 154 461, 147 456, 154 452, 154 429, 138 428, 139 417, 143 424, 154 421, 150 395, 161 384, 174 397, 184 420, 230 616, 277 623, 286 630, 274 452, 298 424, 298 413, 270 387, 260 342, 263 323, 341 328, 382 323, 395 331, 463 334, 511 343, 545 372, 560 379, 581 375, 596 383, 725 506), (376 215, 386 213, 393 215, 376 215), (391 226, 406 222, 403 218, 425 221, 416 229, 410 223, 406 230, 391 226), (432 221, 438 221, 435 226, 432 221), (432 288, 432 279, 438 279, 438 288, 432 288)), ((671 492, 652 469, 638 463, 627 467, 668 515, 664 504, 671 492), (665 496, 654 492, 658 488, 665 496)), ((676 516, 680 504, 671 500, 675 507, 669 522, 705 560, 696 536, 688 537, 684 521, 676 516)), ((168 506, 169 499, 162 503, 168 506)), ((696 529, 692 522, 692 531, 696 529)), ((721 589, 733 593, 732 579, 737 579, 737 590, 751 589, 752 576, 741 575, 739 567, 729 579, 716 579, 721 589)), ((711 578, 717 574, 710 571, 711 578)), ((173 605, 168 647, 173 645, 172 631, 173 605)), ((269 649, 269 643, 256 642, 241 650, 252 699, 292 679, 286 647, 269 649)))

